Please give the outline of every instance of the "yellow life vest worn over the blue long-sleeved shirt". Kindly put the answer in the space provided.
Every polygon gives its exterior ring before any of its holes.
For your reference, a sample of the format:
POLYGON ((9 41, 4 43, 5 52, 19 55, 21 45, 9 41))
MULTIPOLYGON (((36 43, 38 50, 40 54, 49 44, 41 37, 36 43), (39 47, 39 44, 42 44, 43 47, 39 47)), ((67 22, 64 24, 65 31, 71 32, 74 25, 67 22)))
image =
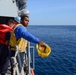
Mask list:
POLYGON ((16 49, 15 47, 17 45, 20 52, 25 52, 25 49, 27 47, 27 40, 25 40, 23 38, 17 39, 14 34, 14 31, 18 26, 22 26, 22 25, 17 24, 16 27, 14 28, 14 30, 12 31, 9 46, 10 46, 11 50, 15 50, 16 49))

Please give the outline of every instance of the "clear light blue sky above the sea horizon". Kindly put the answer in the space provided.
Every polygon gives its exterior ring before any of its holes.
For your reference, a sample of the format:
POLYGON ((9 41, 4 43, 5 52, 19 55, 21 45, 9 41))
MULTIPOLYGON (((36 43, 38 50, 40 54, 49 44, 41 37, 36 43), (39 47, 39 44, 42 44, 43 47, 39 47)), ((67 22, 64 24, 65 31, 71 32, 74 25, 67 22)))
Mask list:
POLYGON ((76 0, 28 0, 30 25, 76 25, 76 0))

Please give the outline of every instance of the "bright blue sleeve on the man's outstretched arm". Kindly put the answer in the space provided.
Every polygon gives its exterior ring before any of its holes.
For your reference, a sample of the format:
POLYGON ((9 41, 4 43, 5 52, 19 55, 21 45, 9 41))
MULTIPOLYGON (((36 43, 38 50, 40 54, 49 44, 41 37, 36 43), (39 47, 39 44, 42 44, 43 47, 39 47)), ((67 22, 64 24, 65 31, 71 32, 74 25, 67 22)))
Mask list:
POLYGON ((18 28, 16 28, 15 35, 16 35, 17 39, 22 37, 30 42, 33 42, 33 43, 40 42, 40 40, 37 37, 35 37, 31 33, 29 33, 23 26, 19 26, 18 28))

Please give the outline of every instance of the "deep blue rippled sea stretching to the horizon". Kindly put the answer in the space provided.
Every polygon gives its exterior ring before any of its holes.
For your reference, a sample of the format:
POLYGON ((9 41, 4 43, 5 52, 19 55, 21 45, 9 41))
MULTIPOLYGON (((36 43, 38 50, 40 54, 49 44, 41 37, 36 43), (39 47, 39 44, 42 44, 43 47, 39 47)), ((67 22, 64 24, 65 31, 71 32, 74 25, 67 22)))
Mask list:
POLYGON ((52 52, 41 58, 35 49, 35 75, 76 75, 76 26, 28 26, 52 52))

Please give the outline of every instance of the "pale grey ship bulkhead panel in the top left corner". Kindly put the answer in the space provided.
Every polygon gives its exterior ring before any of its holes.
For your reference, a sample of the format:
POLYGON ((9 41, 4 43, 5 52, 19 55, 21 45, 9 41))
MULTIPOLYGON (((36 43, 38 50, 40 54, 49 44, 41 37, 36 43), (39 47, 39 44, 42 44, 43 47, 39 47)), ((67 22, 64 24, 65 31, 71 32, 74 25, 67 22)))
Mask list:
POLYGON ((18 16, 18 7, 15 0, 0 0, 0 16, 18 16))

